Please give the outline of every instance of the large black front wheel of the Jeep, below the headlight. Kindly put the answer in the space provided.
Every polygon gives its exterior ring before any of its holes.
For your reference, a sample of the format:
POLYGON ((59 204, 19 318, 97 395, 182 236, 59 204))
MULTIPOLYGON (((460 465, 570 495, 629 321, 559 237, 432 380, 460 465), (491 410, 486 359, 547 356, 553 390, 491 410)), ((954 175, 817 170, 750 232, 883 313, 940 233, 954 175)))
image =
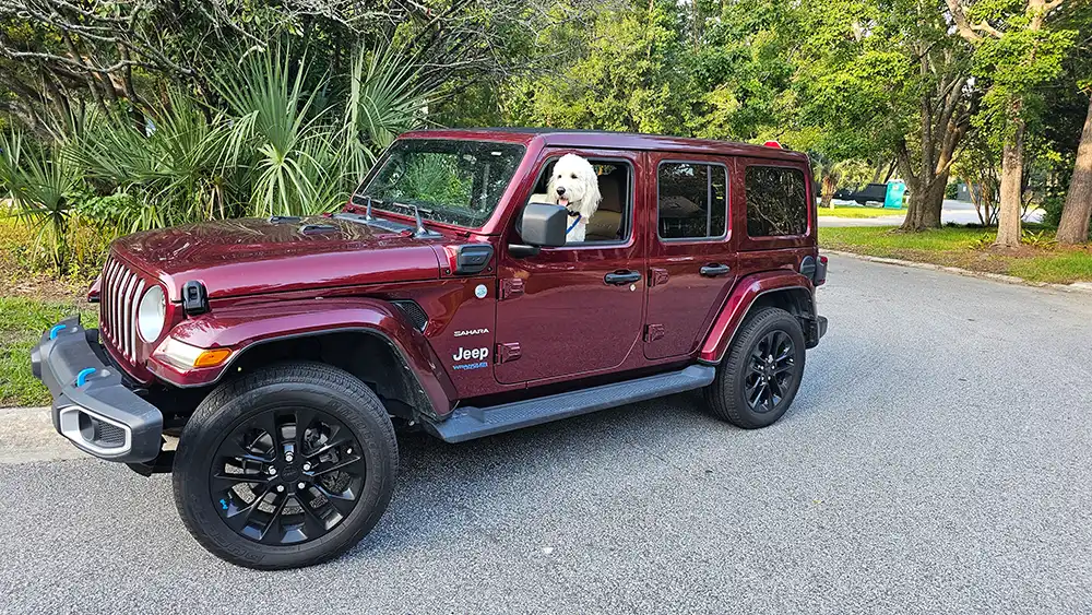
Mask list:
POLYGON ((391 419, 364 382, 320 363, 273 365, 221 385, 190 417, 175 456, 175 506, 226 561, 311 566, 379 522, 397 460, 391 419))

